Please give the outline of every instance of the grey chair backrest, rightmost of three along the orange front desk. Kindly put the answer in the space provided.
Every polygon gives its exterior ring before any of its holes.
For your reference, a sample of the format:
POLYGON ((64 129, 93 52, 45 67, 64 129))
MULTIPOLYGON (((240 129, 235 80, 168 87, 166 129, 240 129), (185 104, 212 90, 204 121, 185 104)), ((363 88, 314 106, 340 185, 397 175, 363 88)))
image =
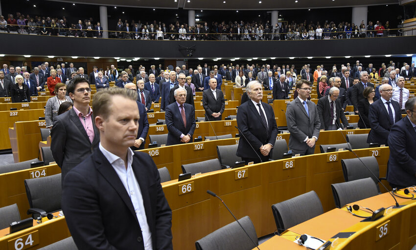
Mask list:
POLYGON ((356 202, 378 195, 377 185, 369 177, 355 181, 331 184, 335 206, 342 208, 348 203, 356 202))

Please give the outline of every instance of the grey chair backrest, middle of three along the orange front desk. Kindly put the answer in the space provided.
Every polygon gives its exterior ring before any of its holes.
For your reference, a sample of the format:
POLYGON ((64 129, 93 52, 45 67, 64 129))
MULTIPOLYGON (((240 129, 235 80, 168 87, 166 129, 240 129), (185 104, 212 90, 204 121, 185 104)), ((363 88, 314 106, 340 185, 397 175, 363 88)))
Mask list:
POLYGON ((315 191, 310 191, 292 199, 272 205, 277 231, 296 226, 324 213, 321 200, 315 191))

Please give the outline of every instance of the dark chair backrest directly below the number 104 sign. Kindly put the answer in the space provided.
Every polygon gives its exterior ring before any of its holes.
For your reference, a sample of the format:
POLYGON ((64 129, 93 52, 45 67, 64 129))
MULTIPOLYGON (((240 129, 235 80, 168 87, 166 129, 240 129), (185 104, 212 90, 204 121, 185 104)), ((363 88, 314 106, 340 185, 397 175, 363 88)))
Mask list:
POLYGON ((61 174, 24 180, 30 208, 46 212, 61 209, 61 174))

